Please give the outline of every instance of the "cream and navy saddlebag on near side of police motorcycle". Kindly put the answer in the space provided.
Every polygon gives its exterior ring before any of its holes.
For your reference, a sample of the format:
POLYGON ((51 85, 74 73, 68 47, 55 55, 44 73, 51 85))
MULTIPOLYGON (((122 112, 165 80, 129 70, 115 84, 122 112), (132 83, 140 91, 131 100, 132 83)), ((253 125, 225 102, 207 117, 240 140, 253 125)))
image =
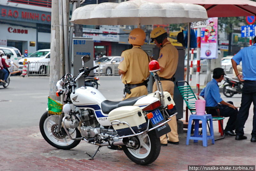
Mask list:
MULTIPOLYGON (((147 123, 142 110, 138 106, 122 106, 116 108, 109 112, 108 120, 112 123, 115 120, 120 122, 127 122, 135 133, 139 133, 147 129, 147 123)), ((118 122, 113 122, 116 124, 118 122)), ((133 134, 131 129, 127 124, 119 123, 113 125, 119 136, 131 135, 133 134)))

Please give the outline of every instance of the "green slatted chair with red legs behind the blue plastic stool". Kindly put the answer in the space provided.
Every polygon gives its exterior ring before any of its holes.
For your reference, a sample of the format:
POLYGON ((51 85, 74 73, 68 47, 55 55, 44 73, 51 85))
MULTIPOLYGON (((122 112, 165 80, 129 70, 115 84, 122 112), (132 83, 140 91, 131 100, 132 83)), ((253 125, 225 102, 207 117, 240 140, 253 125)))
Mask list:
MULTIPOLYGON (((176 82, 177 88, 183 98, 183 100, 185 100, 185 103, 187 105, 188 110, 191 112, 192 115, 196 114, 196 100, 197 97, 195 95, 195 93, 193 92, 191 86, 188 84, 187 81, 177 81, 176 82), (179 83, 183 85, 179 86, 179 83), (187 85, 185 85, 185 83, 187 83, 187 85)), ((220 138, 217 138, 215 140, 219 140, 219 139, 223 139, 225 138, 225 133, 224 133, 224 129, 223 129, 223 119, 224 117, 220 116, 220 112, 218 111, 219 116, 212 116, 212 120, 213 121, 219 121, 219 132, 220 132, 220 138)), ((188 122, 188 112, 186 110, 186 122, 188 122)), ((207 122, 208 124, 208 122, 207 122)), ((209 127, 209 124, 208 124, 209 127)), ((209 127, 210 130, 210 127, 209 127)))

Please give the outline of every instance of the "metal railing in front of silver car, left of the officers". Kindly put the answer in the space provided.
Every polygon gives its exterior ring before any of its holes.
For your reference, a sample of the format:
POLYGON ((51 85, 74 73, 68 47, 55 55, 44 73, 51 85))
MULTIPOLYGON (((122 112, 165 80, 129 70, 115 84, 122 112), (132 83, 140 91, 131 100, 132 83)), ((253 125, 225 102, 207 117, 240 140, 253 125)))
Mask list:
POLYGON ((116 63, 111 63, 111 64, 100 63, 99 66, 100 66, 99 68, 96 68, 95 75, 119 75, 118 68, 117 68, 118 64, 116 63))

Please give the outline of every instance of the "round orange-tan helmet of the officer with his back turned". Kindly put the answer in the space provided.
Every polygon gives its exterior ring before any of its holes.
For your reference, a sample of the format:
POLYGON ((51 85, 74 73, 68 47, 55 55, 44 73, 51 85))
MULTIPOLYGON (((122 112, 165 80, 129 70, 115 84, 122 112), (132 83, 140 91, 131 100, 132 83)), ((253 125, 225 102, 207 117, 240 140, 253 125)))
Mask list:
POLYGON ((134 28, 128 37, 128 42, 132 45, 143 45, 146 40, 146 33, 141 28, 134 28))

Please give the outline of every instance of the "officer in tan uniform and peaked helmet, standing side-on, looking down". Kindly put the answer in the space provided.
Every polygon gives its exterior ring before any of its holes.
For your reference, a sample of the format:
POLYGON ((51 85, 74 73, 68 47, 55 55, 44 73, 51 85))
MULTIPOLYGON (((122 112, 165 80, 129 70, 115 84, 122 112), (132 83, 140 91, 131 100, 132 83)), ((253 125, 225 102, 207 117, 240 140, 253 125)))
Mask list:
MULTIPOLYGON (((160 48, 158 63, 160 65, 160 71, 157 74, 160 77, 160 81, 163 86, 163 91, 167 91, 172 95, 174 92, 173 75, 176 72, 178 66, 178 50, 167 40, 167 32, 162 27, 156 27, 150 33, 151 42, 155 42, 156 46, 160 48)), ((157 90, 156 82, 153 85, 153 92, 157 90)), ((172 120, 168 122, 171 132, 160 137, 161 144, 167 146, 170 144, 179 144, 179 136, 177 131, 177 119, 176 115, 172 117, 172 120)))

